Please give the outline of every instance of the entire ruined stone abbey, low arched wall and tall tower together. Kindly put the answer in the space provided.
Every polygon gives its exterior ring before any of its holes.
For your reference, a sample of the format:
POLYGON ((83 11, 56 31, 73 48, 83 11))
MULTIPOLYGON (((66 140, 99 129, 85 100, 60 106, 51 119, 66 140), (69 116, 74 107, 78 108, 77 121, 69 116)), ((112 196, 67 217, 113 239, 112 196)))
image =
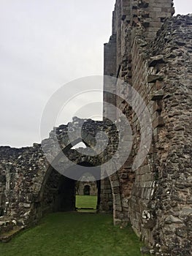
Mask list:
MULTIPOLYGON (((109 94, 111 84, 104 80, 104 102, 115 105, 128 118, 134 139, 124 165, 109 177, 96 177, 101 178, 97 181, 97 208, 101 213, 112 213, 115 225, 131 223, 152 254, 189 256, 192 15, 173 15, 172 0, 116 0, 112 35, 104 45, 104 75, 120 78, 139 92, 150 112, 153 136, 147 157, 134 170, 139 145, 147 137, 137 114, 123 100, 131 97, 128 87, 117 91, 114 85, 109 94)), ((118 120, 118 113, 109 105, 104 105, 104 115, 118 120)), ((118 143, 118 129, 110 120, 74 118, 72 122, 74 127, 83 123, 83 136, 76 143, 82 140, 90 148, 95 146, 99 130, 107 132, 107 151, 96 157, 72 149, 68 125, 55 127, 42 144, 0 147, 0 234, 12 227, 36 224, 47 212, 74 210, 75 180, 67 177, 71 166, 61 161, 59 152, 55 154, 55 141, 72 162, 82 166, 80 176, 86 166, 101 166, 102 171, 102 164, 112 157, 118 143), (45 148, 64 175, 49 164, 45 148)))

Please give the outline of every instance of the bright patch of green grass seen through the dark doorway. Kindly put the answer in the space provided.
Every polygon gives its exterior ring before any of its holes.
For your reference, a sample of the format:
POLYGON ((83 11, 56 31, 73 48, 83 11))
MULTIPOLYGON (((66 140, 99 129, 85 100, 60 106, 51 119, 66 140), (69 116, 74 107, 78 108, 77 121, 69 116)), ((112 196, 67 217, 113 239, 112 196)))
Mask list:
POLYGON ((77 208, 94 208, 96 209, 96 195, 76 195, 77 208))

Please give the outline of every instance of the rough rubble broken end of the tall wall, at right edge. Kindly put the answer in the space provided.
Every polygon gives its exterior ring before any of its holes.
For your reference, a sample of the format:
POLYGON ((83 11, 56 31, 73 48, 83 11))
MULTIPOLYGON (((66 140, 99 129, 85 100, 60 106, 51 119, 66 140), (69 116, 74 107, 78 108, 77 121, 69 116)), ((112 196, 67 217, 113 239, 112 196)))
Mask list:
POLYGON ((191 104, 192 104, 192 17, 166 20, 153 44, 153 55, 162 54, 164 64, 150 63, 152 73, 163 76, 154 81, 164 126, 155 131, 158 158, 156 192, 158 235, 162 247, 173 255, 191 253, 191 104))

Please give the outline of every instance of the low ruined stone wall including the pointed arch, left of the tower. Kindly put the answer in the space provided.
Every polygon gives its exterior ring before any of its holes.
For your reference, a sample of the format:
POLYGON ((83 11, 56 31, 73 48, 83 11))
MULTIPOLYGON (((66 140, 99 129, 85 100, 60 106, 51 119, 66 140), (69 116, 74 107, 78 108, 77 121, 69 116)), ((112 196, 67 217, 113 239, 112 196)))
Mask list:
MULTIPOLYGON (((93 178, 100 180, 103 177, 100 165, 107 162, 115 151, 113 140, 116 134, 111 121, 74 118, 68 125, 54 127, 42 144, 26 148, 0 147, 0 233, 1 225, 6 225, 7 219, 15 225, 28 226, 37 223, 48 212, 74 211, 76 181, 69 175, 70 172, 80 165, 77 179, 89 172, 93 178), (72 149, 68 129, 74 130, 77 136, 73 141, 75 144, 83 140, 88 147, 79 148, 81 152, 72 149), (79 130, 80 134, 77 132, 79 130), (101 131, 109 135, 106 151, 102 148, 104 138, 95 138, 101 131), (101 153, 95 156, 94 150, 101 153), (91 167, 95 167, 93 173, 91 167)), ((97 187, 97 208, 101 208, 102 212, 112 212, 112 200, 101 200, 100 181, 97 187)), ((107 198, 112 198, 110 184, 107 189, 110 191, 107 198)))

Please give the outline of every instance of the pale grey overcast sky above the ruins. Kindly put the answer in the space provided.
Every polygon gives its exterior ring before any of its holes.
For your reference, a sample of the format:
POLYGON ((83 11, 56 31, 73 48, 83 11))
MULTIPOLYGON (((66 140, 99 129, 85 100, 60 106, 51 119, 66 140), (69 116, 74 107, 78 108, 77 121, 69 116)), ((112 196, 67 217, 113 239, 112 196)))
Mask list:
MULTIPOLYGON (((177 13, 192 12, 191 0, 174 3, 177 13)), ((74 79, 103 74, 115 0, 0 4, 0 145, 31 146, 40 142, 42 111, 51 95, 74 79)), ((76 109, 70 110, 64 122, 76 109)))

